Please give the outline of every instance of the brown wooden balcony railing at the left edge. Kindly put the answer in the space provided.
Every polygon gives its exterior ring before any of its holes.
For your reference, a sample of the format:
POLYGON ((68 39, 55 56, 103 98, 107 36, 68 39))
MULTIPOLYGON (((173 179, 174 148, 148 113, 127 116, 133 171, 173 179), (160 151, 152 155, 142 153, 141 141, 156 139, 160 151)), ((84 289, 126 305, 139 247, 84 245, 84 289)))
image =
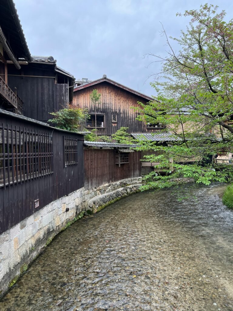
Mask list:
POLYGON ((9 88, 2 77, 0 77, 0 94, 15 107, 16 113, 23 114, 23 101, 9 88))

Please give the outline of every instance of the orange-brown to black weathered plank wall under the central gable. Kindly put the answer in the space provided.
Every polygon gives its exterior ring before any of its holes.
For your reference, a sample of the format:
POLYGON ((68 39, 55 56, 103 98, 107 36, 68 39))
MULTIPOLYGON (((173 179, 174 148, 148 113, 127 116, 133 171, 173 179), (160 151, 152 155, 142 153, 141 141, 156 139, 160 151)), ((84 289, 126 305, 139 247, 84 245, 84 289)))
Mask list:
POLYGON ((94 105, 90 101, 90 94, 94 89, 101 94, 101 104, 97 106, 96 111, 105 114, 105 128, 98 128, 98 134, 110 135, 122 126, 128 127, 130 133, 154 131, 147 129, 145 122, 136 120, 138 112, 131 108, 139 107, 138 101, 146 104, 148 100, 107 82, 74 91, 73 105, 87 108, 88 112, 94 113, 94 105), (112 114, 117 114, 117 123, 112 123, 112 114))

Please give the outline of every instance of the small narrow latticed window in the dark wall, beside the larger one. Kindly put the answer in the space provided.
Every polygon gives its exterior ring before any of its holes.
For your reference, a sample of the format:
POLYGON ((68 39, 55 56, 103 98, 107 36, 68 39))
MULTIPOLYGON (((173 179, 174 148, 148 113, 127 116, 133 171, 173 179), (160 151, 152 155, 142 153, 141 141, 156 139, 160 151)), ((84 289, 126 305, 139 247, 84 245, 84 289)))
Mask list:
POLYGON ((78 164, 78 139, 64 136, 65 167, 78 164))

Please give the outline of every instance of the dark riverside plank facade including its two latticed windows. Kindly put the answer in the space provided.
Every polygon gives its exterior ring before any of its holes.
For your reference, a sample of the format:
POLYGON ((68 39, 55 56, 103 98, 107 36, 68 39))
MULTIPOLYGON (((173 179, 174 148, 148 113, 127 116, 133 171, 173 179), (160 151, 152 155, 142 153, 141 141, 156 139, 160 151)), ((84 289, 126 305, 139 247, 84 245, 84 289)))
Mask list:
POLYGON ((83 135, 0 112, 0 233, 83 185, 83 135))

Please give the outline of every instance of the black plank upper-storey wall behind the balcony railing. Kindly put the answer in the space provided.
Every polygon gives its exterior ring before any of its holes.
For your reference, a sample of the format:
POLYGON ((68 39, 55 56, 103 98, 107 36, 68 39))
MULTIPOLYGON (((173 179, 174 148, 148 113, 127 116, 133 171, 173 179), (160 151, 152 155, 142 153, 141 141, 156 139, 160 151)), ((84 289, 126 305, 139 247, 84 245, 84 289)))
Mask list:
POLYGON ((24 102, 25 117, 47 122, 49 112, 68 107, 68 84, 55 84, 54 65, 21 65, 17 70, 8 65, 8 86, 24 102), (35 77, 37 76, 37 77, 35 77))

